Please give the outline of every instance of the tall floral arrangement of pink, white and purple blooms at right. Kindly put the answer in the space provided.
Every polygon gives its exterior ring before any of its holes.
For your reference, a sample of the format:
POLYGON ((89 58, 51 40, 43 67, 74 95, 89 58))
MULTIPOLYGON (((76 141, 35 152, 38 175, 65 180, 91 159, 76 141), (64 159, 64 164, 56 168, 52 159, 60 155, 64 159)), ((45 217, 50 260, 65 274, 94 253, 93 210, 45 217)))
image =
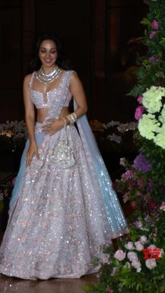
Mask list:
POLYGON ((134 162, 120 159, 122 176, 113 187, 131 208, 129 234, 103 248, 99 281, 85 286, 92 293, 165 292, 165 6, 145 0, 149 11, 141 22, 146 55, 138 59, 137 85, 129 92, 138 106, 134 162), (159 258, 144 252, 159 250, 159 258))

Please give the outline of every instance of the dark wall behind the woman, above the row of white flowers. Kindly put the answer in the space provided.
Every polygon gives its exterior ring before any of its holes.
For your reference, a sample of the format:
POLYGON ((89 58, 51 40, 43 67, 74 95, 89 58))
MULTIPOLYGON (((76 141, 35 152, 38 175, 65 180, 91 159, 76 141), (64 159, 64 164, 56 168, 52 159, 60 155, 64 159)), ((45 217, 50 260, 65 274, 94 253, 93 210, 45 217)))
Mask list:
POLYGON ((142 0, 0 1, 0 123, 22 120, 22 80, 34 40, 59 35, 85 87, 89 119, 134 119, 135 101, 125 95, 136 82, 136 49, 128 41, 143 34, 142 0))

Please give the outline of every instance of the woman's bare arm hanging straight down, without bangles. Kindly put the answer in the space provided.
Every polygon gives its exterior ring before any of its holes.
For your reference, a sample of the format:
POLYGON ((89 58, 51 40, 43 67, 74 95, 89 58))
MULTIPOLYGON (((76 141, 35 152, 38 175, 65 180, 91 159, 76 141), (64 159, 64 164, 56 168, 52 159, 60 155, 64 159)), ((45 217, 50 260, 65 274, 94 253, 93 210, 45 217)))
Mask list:
POLYGON ((23 96, 24 96, 24 108, 25 108, 25 121, 27 124, 27 132, 29 134, 29 150, 27 151, 27 165, 30 165, 31 158, 36 154, 36 157, 39 159, 38 148, 34 136, 34 104, 31 101, 30 90, 29 90, 29 81, 31 75, 25 76, 23 84, 23 96))

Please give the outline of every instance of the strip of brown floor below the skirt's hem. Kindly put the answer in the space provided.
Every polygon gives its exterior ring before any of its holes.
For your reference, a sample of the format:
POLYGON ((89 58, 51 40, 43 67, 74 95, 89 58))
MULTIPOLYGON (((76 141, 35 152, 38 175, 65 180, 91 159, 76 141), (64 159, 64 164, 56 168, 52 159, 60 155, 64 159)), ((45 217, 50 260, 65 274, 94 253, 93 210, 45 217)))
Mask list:
POLYGON ((22 280, 0 275, 0 292, 6 293, 85 293, 82 287, 94 282, 98 276, 91 274, 80 279, 22 280))

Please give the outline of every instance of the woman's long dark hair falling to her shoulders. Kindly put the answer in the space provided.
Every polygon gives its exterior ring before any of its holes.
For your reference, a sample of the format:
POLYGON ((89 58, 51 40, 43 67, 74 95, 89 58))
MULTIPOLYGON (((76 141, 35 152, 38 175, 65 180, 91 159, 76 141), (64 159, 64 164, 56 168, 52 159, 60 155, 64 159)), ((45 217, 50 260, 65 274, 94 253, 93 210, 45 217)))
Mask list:
POLYGON ((51 40, 51 41, 55 42, 55 44, 56 44, 57 55, 58 55, 57 60, 56 60, 56 64, 61 69, 64 69, 64 70, 73 69, 73 66, 72 66, 70 60, 66 59, 66 57, 65 57, 64 50, 62 48, 62 42, 59 40, 59 37, 56 36, 55 34, 43 34, 36 41, 36 45, 34 48, 34 57, 31 60, 31 64, 29 66, 28 72, 31 73, 33 71, 37 71, 38 69, 40 69, 41 60, 38 57, 38 52, 39 52, 39 48, 40 48, 41 43, 45 40, 51 40))

